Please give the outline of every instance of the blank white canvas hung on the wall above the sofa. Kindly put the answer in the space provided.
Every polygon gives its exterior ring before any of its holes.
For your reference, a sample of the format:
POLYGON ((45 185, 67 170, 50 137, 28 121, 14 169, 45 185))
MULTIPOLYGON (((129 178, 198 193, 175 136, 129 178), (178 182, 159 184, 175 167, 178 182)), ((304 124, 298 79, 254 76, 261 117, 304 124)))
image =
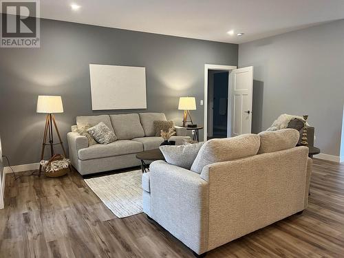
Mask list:
POLYGON ((89 64, 92 110, 147 109, 146 68, 89 64))

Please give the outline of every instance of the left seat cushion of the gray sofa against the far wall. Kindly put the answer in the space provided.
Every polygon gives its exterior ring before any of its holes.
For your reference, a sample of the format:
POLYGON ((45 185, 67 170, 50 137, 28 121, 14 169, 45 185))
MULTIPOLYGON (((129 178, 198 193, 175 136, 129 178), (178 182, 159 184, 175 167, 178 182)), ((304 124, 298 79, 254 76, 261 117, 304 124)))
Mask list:
POLYGON ((78 151, 80 160, 91 160, 94 158, 105 158, 143 151, 142 143, 133 140, 117 140, 109 144, 95 144, 78 151))

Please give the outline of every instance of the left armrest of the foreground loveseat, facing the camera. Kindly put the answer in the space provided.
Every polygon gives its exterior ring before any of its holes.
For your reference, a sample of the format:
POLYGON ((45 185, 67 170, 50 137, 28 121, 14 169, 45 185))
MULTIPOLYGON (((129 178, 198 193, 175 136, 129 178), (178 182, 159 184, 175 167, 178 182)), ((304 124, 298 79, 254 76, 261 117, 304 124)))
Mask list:
POLYGON ((151 217, 198 254, 206 252, 208 183, 162 160, 151 163, 150 171, 151 217))

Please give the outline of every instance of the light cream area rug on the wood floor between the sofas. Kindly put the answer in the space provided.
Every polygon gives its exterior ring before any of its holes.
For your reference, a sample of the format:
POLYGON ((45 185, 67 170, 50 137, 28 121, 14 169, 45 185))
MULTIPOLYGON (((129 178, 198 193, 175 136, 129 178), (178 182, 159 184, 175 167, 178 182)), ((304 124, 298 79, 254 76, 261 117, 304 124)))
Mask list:
POLYGON ((142 213, 142 171, 85 179, 96 195, 119 218, 142 213))

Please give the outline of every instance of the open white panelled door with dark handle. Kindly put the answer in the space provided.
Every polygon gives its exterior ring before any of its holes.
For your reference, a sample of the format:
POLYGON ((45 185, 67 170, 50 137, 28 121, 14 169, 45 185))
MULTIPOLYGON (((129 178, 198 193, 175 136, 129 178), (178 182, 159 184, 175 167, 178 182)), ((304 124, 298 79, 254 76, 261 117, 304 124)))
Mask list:
POLYGON ((232 100, 232 111, 229 136, 251 133, 253 67, 233 69, 230 72, 230 87, 232 90, 229 99, 232 100))

